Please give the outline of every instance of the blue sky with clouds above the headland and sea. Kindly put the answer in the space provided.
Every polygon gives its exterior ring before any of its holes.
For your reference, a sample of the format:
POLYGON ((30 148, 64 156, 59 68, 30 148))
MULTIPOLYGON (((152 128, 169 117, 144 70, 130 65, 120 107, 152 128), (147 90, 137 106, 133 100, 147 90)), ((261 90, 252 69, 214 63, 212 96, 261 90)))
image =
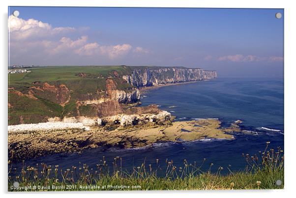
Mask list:
POLYGON ((283 77, 283 9, 8 7, 8 31, 10 66, 184 66, 220 77, 283 77))

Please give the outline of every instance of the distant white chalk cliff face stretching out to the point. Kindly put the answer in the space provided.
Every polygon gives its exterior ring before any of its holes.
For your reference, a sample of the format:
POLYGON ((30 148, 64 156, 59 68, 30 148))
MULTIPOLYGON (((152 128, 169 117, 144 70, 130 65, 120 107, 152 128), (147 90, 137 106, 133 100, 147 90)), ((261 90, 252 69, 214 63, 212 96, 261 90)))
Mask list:
POLYGON ((130 75, 123 75, 128 83, 136 87, 163 85, 166 83, 190 82, 217 78, 216 71, 192 68, 145 68, 133 69, 130 75))

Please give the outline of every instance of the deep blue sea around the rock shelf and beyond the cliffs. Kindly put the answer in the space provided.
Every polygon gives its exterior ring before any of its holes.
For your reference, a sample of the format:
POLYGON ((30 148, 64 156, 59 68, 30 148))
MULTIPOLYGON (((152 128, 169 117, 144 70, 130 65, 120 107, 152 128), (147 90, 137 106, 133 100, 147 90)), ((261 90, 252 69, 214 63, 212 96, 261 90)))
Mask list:
MULTIPOLYGON (((175 166, 188 163, 201 164, 203 169, 216 171, 220 166, 231 165, 231 170, 242 170, 246 163, 242 153, 258 154, 266 141, 270 148, 284 147, 284 83, 283 79, 235 79, 218 78, 210 81, 180 84, 149 90, 142 95, 142 105, 157 104, 162 110, 177 116, 177 120, 218 118, 223 126, 242 120, 241 126, 253 134, 236 134, 235 140, 193 141, 187 143, 156 143, 136 149, 90 149, 81 154, 55 154, 26 161, 26 165, 44 162, 59 164, 63 170, 86 163, 95 169, 103 156, 110 166, 114 157, 122 157, 122 167, 131 170, 146 160, 146 164, 165 165, 166 159, 175 166), (175 107, 174 107, 175 106, 175 107), (263 128, 262 128, 263 127, 263 128)), ((18 168, 22 163, 13 165, 18 168)))

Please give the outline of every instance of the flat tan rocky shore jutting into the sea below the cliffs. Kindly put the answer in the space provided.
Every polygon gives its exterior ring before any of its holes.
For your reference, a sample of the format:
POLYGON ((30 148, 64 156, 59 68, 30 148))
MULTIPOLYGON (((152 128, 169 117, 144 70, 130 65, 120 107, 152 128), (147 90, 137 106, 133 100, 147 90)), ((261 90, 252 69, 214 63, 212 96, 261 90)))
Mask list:
MULTIPOLYGON (((90 148, 138 148, 156 142, 186 142, 206 138, 233 140, 233 133, 241 132, 239 123, 220 128, 219 120, 201 119, 165 123, 148 122, 138 125, 88 126, 83 123, 48 122, 47 129, 30 128, 20 124, 23 130, 13 126, 8 131, 8 157, 20 161, 54 153, 82 152, 90 148), (71 128, 70 126, 74 126, 71 128)), ((42 125, 43 126, 43 125, 42 125)))

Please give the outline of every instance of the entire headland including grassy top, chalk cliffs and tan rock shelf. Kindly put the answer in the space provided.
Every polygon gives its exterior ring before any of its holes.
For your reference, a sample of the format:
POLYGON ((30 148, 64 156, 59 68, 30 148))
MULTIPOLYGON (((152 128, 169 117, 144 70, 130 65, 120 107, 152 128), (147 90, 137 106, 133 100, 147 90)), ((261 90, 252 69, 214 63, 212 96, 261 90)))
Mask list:
POLYGON ((184 67, 64 66, 8 74, 9 159, 86 148, 135 148, 165 141, 233 139, 234 123, 174 121, 156 105, 139 107, 140 91, 210 80, 215 71, 184 67))

